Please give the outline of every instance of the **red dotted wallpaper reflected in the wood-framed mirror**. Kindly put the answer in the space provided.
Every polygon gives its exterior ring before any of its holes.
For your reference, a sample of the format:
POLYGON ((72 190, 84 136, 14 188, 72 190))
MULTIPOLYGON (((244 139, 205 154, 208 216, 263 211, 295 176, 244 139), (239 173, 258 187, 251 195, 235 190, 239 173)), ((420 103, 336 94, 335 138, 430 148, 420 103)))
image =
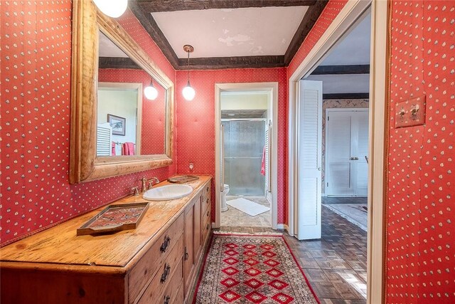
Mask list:
MULTIPOLYGON (((144 70, 102 68, 98 80, 107 83, 142 83, 150 85, 151 76, 144 70)), ((166 90, 154 81, 158 91, 156 100, 149 100, 142 92, 141 154, 164 154, 164 132, 166 130, 166 90)), ((122 116, 122 115, 119 115, 122 116)))

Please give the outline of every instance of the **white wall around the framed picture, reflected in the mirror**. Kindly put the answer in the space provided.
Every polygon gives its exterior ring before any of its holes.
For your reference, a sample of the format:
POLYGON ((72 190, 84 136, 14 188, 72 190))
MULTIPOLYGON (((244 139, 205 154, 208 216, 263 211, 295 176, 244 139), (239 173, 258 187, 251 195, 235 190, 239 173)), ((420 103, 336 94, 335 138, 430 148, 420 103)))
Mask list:
POLYGON ((126 118, 125 136, 112 135, 114 142, 136 143, 137 90, 117 90, 100 88, 98 90, 97 122, 107 122, 107 114, 126 118))

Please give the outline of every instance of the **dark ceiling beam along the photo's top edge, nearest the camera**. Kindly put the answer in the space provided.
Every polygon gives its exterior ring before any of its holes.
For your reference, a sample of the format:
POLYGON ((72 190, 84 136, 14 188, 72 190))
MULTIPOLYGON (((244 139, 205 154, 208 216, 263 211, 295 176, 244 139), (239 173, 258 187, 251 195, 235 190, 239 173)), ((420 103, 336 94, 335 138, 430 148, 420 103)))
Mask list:
POLYGON ((316 0, 136 0, 149 12, 203 9, 240 9, 266 6, 312 6, 316 0))

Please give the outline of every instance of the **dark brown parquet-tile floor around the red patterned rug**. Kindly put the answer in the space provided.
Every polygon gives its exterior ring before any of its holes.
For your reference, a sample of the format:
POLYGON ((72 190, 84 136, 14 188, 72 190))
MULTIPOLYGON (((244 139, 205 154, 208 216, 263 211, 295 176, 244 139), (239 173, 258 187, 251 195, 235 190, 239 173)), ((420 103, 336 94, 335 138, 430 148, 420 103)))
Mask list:
MULTIPOLYGON (((322 238, 299 241, 284 234, 322 304, 366 303, 367 234, 322 207, 322 238)), ((222 226, 221 231, 267 232, 264 227, 222 226)))

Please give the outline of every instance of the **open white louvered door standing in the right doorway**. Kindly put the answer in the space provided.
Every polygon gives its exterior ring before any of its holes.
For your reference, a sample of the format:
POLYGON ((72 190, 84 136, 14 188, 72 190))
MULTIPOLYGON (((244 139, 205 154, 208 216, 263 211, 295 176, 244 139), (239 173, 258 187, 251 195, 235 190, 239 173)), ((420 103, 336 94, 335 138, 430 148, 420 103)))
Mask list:
POLYGON ((299 82, 297 239, 321 239, 322 82, 299 82))

